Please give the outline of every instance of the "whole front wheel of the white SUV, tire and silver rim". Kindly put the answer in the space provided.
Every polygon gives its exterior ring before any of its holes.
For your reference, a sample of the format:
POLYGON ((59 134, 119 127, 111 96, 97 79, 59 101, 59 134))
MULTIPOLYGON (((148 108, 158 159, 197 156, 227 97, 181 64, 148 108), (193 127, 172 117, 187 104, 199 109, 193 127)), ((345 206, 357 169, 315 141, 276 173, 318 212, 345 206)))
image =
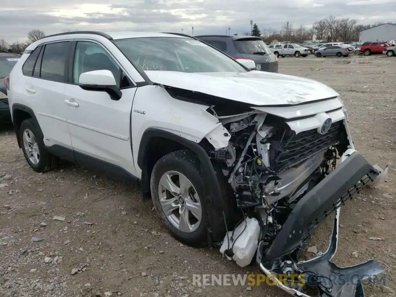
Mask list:
POLYGON ((190 150, 163 156, 152 169, 150 188, 154 208, 172 236, 205 246, 206 203, 198 157, 190 150))

